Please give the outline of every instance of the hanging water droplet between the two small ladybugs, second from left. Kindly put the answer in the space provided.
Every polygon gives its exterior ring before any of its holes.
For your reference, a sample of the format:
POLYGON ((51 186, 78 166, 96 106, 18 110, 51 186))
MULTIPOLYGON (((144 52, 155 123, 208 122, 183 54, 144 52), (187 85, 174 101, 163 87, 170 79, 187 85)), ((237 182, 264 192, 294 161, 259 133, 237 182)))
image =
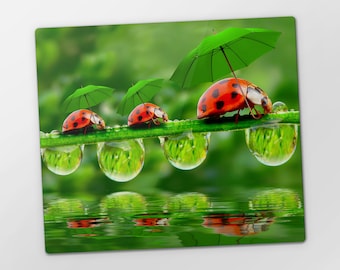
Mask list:
POLYGON ((99 167, 108 178, 127 182, 135 178, 143 168, 143 141, 138 139, 98 143, 97 156, 99 167))

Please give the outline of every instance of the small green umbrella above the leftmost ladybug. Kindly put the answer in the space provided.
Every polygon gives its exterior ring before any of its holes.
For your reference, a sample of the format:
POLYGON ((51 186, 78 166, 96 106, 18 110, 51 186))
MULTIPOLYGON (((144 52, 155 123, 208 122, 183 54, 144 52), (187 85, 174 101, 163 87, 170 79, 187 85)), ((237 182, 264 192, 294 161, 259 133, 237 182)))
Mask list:
POLYGON ((112 97, 113 89, 107 86, 87 85, 76 89, 63 102, 65 112, 91 108, 112 97))

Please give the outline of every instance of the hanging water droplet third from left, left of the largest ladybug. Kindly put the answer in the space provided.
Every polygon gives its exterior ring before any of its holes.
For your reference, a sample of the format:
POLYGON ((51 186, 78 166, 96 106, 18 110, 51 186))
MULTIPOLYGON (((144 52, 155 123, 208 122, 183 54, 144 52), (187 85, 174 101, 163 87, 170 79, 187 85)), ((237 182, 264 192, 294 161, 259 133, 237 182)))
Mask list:
POLYGON ((207 157, 210 133, 185 132, 160 138, 170 164, 181 170, 197 168, 207 157))

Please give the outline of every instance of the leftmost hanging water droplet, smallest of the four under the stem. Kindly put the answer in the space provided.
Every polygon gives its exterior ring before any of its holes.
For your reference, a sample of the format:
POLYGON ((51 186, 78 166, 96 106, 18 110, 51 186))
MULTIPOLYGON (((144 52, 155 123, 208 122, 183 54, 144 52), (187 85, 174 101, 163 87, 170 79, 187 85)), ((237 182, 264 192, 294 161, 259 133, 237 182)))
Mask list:
POLYGON ((41 149, 46 167, 58 175, 68 175, 78 169, 83 158, 84 145, 60 146, 41 149))

